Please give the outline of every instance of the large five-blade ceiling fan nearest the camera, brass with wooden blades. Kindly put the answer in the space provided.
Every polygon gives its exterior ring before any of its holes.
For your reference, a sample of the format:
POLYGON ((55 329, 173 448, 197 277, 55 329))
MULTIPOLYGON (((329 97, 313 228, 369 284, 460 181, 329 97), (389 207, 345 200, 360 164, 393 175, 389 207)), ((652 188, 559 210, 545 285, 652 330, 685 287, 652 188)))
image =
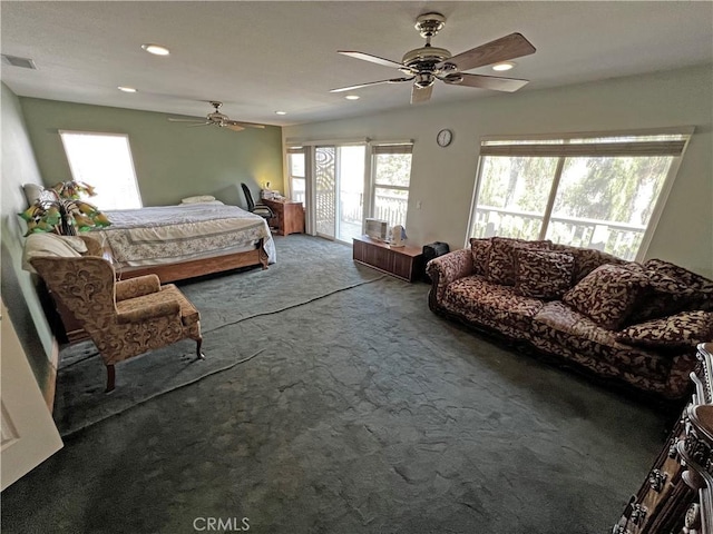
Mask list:
POLYGON ((431 46, 431 38, 446 24, 441 13, 424 13, 416 19, 416 29, 426 39, 426 46, 406 52, 401 62, 380 58, 370 53, 339 50, 339 53, 372 63, 393 67, 406 75, 403 78, 370 81, 356 86, 340 87, 330 92, 351 91, 379 83, 400 83, 413 81, 411 103, 424 102, 431 98, 433 83, 441 80, 451 86, 476 87, 496 91, 514 92, 525 86, 528 80, 501 78, 497 76, 468 75, 463 71, 499 63, 535 52, 535 47, 520 33, 510 33, 486 44, 451 56, 445 48, 431 46))

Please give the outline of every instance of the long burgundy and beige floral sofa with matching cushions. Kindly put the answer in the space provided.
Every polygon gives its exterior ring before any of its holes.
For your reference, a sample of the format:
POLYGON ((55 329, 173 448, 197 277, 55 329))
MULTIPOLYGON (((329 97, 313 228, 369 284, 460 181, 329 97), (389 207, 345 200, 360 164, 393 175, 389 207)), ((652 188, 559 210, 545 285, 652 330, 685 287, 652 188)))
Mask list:
POLYGON ((681 398, 713 339, 713 280, 550 241, 471 239, 427 265, 429 307, 597 375, 681 398))

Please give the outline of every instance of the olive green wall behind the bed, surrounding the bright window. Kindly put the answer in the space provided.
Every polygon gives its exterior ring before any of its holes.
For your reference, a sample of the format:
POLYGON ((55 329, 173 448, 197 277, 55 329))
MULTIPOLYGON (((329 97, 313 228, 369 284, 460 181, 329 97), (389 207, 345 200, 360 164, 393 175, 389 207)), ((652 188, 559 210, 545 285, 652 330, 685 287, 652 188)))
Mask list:
POLYGON ((47 186, 71 179, 60 129, 128 135, 144 206, 178 204, 241 181, 253 191, 264 181, 283 182, 280 127, 235 132, 189 128, 167 120, 175 115, 152 111, 25 97, 20 105, 47 186))

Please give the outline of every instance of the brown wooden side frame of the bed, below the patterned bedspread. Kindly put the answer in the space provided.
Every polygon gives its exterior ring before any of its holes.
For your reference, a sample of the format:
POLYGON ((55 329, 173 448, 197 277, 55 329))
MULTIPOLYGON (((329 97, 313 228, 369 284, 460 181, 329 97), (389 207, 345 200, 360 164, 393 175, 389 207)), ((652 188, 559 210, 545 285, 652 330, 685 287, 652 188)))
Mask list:
POLYGON ((191 259, 176 264, 153 265, 146 267, 129 267, 117 270, 117 278, 128 279, 144 275, 158 275, 162 284, 195 278, 196 276, 213 275, 241 267, 262 266, 267 268, 267 251, 264 239, 260 239, 254 250, 226 254, 212 258, 191 259))

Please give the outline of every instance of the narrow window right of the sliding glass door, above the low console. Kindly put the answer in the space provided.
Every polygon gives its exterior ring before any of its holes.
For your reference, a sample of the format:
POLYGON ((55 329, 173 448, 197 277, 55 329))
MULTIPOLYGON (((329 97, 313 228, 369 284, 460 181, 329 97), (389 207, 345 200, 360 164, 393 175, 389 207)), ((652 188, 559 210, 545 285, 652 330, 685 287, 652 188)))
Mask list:
POLYGON ((372 145, 371 216, 406 227, 412 144, 372 145))

